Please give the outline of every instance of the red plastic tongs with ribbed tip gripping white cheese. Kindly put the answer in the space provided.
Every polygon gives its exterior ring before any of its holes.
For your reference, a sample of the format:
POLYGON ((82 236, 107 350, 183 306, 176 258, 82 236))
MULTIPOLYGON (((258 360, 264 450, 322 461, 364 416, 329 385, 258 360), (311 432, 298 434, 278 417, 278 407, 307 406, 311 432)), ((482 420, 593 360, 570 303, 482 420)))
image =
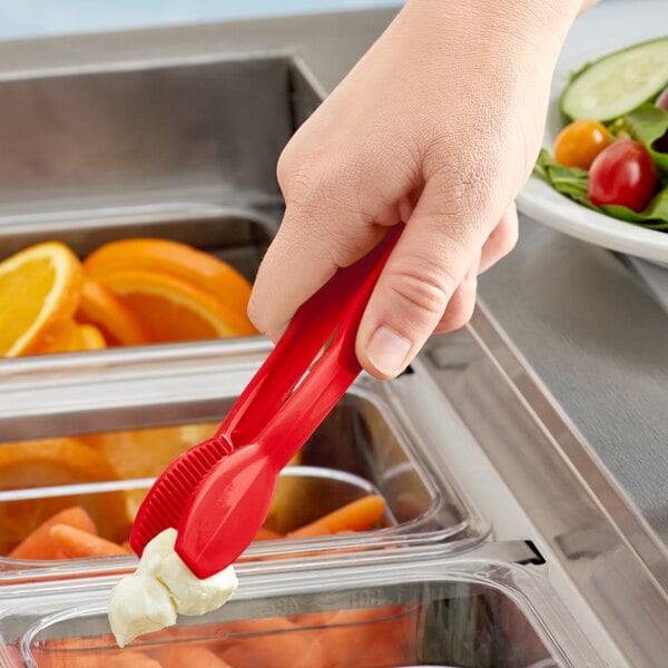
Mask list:
POLYGON ((267 515, 278 473, 362 371, 357 327, 403 227, 392 227, 369 255, 338 269, 299 307, 216 435, 156 480, 130 536, 137 554, 173 527, 176 552, 207 578, 246 549, 267 515))

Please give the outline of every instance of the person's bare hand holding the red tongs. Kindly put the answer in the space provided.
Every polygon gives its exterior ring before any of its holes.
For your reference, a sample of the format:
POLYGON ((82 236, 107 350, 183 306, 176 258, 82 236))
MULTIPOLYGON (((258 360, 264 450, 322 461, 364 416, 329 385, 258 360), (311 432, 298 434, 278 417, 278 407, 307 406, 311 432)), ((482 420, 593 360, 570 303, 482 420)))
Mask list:
POLYGON ((478 274, 517 240, 513 200, 580 4, 405 4, 281 156, 286 212, 250 298, 258 330, 276 340, 399 220, 406 228, 357 332, 362 366, 397 375, 432 333, 469 321, 478 274))

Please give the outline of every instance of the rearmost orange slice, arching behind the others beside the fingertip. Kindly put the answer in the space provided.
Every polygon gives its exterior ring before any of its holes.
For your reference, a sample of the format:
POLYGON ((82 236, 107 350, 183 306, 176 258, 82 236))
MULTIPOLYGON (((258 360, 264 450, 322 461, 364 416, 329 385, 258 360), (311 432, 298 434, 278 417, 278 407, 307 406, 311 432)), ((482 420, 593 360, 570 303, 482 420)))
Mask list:
POLYGON ((187 244, 156 238, 120 239, 92 252, 84 266, 92 278, 126 269, 170 274, 213 293, 246 317, 248 281, 226 262, 187 244))

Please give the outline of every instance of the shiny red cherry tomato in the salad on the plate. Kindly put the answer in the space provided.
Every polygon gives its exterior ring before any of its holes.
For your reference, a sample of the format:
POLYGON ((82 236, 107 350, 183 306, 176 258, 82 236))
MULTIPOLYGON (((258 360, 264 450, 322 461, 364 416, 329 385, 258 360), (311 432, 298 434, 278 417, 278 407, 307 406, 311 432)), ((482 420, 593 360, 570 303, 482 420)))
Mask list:
POLYGON ((633 139, 610 144, 591 164, 587 193, 591 204, 616 204, 641 212, 652 198, 657 169, 647 149, 633 139))

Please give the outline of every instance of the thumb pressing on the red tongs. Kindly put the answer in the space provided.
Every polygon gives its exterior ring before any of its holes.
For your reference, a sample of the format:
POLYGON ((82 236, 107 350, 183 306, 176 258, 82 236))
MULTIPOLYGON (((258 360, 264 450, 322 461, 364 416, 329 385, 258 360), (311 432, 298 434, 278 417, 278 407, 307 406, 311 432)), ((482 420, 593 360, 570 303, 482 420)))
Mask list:
POLYGON ((423 190, 360 323, 355 352, 375 377, 394 377, 410 364, 439 326, 487 236, 471 215, 436 210, 434 189, 428 184, 423 190))

